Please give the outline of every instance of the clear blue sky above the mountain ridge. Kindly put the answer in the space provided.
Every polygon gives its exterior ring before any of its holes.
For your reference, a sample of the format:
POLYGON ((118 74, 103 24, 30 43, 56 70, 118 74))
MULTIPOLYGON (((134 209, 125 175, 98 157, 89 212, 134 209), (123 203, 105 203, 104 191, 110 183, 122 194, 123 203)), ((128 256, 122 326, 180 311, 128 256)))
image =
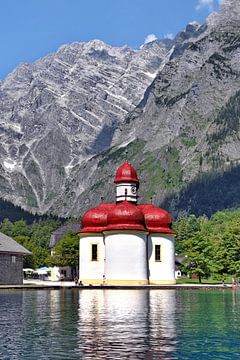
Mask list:
MULTIPOLYGON (((139 48, 149 34, 202 23, 219 0, 6 0, 0 2, 0 79, 73 41, 139 48)), ((151 38, 151 37, 150 37, 151 38)))

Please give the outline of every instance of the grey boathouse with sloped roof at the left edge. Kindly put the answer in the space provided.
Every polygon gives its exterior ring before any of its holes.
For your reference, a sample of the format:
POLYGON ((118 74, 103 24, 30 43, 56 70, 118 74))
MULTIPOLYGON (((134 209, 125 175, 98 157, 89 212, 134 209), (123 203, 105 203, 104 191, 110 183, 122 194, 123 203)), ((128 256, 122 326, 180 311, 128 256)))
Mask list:
POLYGON ((0 285, 23 283, 23 256, 32 253, 0 233, 0 285))

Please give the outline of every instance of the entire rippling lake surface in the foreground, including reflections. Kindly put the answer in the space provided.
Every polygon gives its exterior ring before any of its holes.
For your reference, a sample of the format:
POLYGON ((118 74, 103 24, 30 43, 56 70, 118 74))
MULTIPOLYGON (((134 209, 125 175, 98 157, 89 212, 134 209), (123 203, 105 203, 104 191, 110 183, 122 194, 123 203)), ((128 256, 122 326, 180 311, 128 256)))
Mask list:
POLYGON ((239 359, 240 291, 0 291, 0 359, 239 359))

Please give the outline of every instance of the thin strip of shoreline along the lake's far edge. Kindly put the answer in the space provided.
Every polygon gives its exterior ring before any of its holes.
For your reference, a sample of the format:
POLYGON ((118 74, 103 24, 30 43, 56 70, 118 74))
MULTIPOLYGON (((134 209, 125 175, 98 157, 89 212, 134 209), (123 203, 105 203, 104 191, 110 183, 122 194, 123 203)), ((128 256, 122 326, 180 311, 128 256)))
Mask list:
POLYGON ((75 285, 73 281, 52 282, 52 281, 31 281, 24 280, 21 285, 0 285, 1 290, 238 290, 230 284, 174 284, 174 285, 75 285))

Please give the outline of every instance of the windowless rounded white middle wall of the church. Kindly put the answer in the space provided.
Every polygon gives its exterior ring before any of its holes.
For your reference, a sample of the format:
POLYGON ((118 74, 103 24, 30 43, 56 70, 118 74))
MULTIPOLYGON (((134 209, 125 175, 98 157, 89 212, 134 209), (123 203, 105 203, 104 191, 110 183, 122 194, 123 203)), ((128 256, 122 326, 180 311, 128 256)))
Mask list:
POLYGON ((142 233, 106 232, 106 281, 147 280, 146 241, 142 233))

